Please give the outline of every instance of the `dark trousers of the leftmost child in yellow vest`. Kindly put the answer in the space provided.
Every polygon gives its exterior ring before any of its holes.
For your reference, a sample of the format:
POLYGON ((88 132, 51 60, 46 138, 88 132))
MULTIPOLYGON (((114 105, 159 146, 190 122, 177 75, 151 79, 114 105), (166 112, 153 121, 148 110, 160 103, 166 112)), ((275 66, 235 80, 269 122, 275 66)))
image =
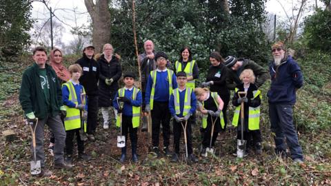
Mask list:
POLYGON ((79 130, 80 129, 66 131, 66 154, 67 155, 72 155, 72 149, 74 148, 74 134, 76 134, 76 138, 77 138, 78 153, 84 152, 84 142, 81 141, 81 136, 79 136, 79 130))

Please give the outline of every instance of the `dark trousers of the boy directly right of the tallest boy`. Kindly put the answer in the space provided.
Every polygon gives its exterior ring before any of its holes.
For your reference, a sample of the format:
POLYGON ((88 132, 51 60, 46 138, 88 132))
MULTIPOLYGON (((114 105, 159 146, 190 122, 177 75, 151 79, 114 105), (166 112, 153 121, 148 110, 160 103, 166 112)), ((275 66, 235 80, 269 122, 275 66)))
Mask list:
MULTIPOLYGON (((186 125, 186 138, 188 143, 188 155, 193 153, 192 150, 192 120, 193 118, 188 119, 188 123, 186 125)), ((177 123, 176 120, 173 122, 173 130, 174 130, 174 152, 179 154, 179 140, 181 138, 181 132, 183 131, 183 126, 185 127, 185 121, 183 123, 177 123)), ((184 141, 185 142, 185 141, 184 141)))

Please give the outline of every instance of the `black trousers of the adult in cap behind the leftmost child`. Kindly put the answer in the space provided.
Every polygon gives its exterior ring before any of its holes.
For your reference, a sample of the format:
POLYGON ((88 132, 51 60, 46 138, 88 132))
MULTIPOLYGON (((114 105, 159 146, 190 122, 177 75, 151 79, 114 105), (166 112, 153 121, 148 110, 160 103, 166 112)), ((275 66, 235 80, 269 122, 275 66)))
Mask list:
POLYGON ((94 134, 97 129, 98 96, 88 96, 88 134, 94 134))

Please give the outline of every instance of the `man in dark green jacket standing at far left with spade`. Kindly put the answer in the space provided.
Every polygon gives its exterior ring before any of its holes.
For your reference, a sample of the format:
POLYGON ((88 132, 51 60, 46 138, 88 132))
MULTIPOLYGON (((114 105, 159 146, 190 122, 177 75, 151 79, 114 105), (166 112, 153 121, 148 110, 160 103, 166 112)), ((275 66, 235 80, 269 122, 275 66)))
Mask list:
POLYGON ((60 113, 66 115, 66 108, 62 103, 61 87, 57 74, 46 64, 45 48, 37 47, 33 50, 34 64, 23 73, 19 101, 29 123, 36 123, 36 156, 41 161, 41 176, 50 176, 52 172, 45 168, 45 154, 43 150, 43 130, 47 124, 55 138, 54 166, 68 168, 64 163, 63 148, 66 131, 61 121, 60 113))

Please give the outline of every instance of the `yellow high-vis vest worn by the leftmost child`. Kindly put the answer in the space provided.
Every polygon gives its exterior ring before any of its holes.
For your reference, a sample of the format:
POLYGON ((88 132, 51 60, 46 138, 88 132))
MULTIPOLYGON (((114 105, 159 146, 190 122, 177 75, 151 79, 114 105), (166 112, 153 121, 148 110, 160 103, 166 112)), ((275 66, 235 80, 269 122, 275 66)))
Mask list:
MULTIPOLYGON (((78 104, 77 101, 77 95, 74 91, 74 85, 69 81, 67 83, 63 83, 62 87, 66 86, 69 90, 69 101, 72 101, 74 104, 78 104)), ((83 90, 83 93, 85 93, 85 90, 83 90)), ((64 118, 64 128, 66 131, 68 130, 74 130, 79 129, 81 127, 81 112, 77 108, 68 107, 65 105, 67 110, 66 118, 64 118)))

